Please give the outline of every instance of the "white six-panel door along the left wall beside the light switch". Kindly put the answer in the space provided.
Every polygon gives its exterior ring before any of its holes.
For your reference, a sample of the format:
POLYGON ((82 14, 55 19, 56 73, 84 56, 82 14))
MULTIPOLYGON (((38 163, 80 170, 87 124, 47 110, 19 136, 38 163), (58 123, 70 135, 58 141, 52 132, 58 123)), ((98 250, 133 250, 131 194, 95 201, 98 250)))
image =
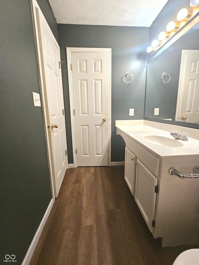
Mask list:
POLYGON ((40 25, 39 45, 41 50, 45 93, 43 96, 46 100, 47 121, 50 126, 48 133, 50 139, 54 191, 55 197, 57 197, 68 168, 62 74, 59 66, 59 62, 61 61, 60 48, 42 12, 37 9, 36 13, 37 21, 40 25), (58 128, 56 128, 56 126, 51 127, 51 124, 58 125, 58 128))

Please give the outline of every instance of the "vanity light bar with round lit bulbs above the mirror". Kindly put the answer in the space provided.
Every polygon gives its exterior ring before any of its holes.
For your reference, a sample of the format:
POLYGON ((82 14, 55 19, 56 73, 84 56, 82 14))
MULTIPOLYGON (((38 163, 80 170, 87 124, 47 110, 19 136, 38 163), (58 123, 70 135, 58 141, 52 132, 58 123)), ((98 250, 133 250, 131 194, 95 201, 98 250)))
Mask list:
POLYGON ((160 48, 164 43, 172 37, 183 25, 187 23, 187 21, 195 16, 199 9, 194 8, 199 4, 199 0, 191 0, 190 1, 190 8, 187 10, 187 8, 182 8, 178 14, 177 14, 177 20, 179 21, 176 23, 175 21, 170 21, 166 26, 167 32, 160 32, 158 35, 158 40, 155 39, 152 41, 151 46, 147 47, 146 52, 150 53, 152 51, 156 51, 158 48, 160 48), (183 21, 183 22, 181 22, 183 21))

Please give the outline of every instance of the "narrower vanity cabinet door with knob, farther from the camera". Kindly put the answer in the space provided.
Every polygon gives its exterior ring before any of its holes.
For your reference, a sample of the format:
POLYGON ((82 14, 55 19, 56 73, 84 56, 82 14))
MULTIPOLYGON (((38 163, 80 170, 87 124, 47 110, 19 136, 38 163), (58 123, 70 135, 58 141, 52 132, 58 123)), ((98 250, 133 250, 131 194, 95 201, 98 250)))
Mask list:
POLYGON ((136 156, 126 147, 124 178, 133 196, 135 196, 136 156))

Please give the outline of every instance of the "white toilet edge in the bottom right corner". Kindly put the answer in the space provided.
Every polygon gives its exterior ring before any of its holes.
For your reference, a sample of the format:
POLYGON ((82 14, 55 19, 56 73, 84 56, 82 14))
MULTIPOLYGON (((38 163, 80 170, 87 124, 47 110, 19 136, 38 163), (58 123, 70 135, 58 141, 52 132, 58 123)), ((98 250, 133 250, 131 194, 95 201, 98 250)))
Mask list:
POLYGON ((173 265, 199 265, 199 249, 183 251, 174 261, 173 265))

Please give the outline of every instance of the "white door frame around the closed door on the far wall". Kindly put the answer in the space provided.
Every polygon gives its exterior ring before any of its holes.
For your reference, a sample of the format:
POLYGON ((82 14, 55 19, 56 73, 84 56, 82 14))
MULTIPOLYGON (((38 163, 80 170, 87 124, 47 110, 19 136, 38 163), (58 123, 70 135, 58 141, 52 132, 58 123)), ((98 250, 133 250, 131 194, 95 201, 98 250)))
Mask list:
POLYGON ((70 113, 71 113, 71 131, 72 131, 72 152, 73 152, 73 166, 77 167, 76 155, 76 135, 75 135, 75 116, 74 116, 74 97, 72 85, 72 70, 71 70, 71 53, 84 52, 106 52, 108 53, 108 165, 111 165, 111 48, 76 48, 67 47, 67 68, 68 68, 68 87, 70 99, 70 113))

